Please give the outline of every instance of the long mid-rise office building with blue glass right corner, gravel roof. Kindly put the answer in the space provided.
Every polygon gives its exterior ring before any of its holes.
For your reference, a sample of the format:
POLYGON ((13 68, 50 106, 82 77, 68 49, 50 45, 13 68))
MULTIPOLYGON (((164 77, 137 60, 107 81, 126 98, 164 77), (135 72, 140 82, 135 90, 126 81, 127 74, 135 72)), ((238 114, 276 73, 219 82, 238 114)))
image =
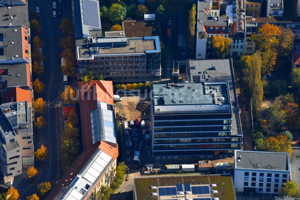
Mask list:
POLYGON ((114 83, 161 80, 158 36, 126 38, 124 32, 105 32, 106 38, 77 40, 77 78, 103 74, 114 83), (79 44, 80 43, 80 44, 79 44))

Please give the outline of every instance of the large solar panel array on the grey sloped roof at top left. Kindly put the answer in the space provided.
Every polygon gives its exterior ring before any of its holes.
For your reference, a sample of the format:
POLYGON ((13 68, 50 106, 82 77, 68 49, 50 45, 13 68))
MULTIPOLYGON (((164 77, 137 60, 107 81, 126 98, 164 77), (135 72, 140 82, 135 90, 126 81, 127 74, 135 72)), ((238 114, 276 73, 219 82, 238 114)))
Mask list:
POLYGON ((88 26, 99 27, 99 14, 97 2, 82 0, 83 22, 88 26))

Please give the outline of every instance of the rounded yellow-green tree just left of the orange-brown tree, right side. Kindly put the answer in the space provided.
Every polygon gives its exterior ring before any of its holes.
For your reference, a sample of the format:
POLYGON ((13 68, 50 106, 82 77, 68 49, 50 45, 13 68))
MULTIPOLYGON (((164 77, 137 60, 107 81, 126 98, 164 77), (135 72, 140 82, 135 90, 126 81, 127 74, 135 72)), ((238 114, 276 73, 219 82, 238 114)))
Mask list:
POLYGON ((283 126, 286 123, 286 112, 281 102, 273 102, 267 115, 268 122, 273 126, 283 126))

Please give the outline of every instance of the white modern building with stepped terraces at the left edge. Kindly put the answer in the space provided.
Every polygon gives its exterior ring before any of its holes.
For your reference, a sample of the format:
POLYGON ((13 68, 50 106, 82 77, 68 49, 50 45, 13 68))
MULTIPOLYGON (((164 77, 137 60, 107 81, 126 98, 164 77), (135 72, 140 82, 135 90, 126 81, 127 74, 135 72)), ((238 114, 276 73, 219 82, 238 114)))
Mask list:
POLYGON ((34 165, 31 106, 27 101, 0 105, 1 173, 4 181, 34 165))

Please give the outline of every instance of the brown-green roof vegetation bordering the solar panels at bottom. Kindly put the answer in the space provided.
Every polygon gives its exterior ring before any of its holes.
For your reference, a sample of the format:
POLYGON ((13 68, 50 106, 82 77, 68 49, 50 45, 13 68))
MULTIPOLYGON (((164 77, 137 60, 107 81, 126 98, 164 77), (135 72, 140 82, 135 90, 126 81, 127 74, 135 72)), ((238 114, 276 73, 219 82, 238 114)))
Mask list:
MULTIPOLYGON (((222 200, 234 200, 235 193, 230 175, 189 175, 184 176, 176 174, 176 176, 160 176, 160 177, 143 177, 134 179, 134 187, 137 200, 157 200, 158 196, 152 196, 152 192, 157 189, 151 189, 151 186, 176 186, 176 183, 190 183, 191 185, 212 184, 216 183, 217 194, 213 197, 219 197, 222 200)), ((135 195, 135 194, 134 194, 135 195)))

